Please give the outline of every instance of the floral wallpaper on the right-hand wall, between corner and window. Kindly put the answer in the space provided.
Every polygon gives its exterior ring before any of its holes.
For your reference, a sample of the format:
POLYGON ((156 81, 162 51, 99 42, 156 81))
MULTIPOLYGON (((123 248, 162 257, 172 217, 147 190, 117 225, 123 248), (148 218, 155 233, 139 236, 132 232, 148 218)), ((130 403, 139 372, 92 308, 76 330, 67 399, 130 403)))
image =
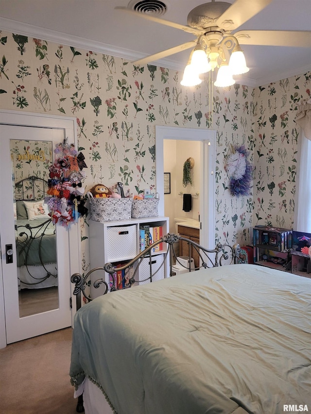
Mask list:
POLYGON ((310 89, 308 72, 254 90, 249 139, 255 166, 254 225, 293 228, 300 156, 299 127, 294 118, 297 105, 310 99, 310 89))

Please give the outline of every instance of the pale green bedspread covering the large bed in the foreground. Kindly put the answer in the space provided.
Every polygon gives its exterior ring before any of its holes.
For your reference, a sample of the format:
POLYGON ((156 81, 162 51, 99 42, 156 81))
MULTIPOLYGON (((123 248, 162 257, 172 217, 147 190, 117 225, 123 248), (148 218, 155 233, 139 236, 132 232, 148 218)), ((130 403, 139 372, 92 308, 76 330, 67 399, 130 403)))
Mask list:
POLYGON ((256 265, 203 269, 81 308, 70 376, 94 379, 118 414, 310 411, 310 321, 311 279, 256 265))

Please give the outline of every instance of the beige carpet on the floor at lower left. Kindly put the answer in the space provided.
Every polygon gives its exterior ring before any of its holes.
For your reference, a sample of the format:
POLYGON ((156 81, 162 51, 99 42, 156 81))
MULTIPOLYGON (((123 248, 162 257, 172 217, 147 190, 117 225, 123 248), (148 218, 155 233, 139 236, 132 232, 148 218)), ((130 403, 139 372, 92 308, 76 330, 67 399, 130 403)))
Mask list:
POLYGON ((0 349, 1 414, 74 414, 69 364, 72 329, 0 349))

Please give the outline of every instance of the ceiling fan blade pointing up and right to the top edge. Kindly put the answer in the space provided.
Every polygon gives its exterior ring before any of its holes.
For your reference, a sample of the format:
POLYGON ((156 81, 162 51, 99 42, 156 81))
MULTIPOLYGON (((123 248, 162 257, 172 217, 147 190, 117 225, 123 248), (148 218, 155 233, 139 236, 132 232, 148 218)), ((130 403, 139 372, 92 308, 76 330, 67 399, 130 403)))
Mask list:
POLYGON ((257 15, 272 0, 236 0, 218 18, 217 26, 224 30, 234 30, 242 26, 245 21, 257 15))

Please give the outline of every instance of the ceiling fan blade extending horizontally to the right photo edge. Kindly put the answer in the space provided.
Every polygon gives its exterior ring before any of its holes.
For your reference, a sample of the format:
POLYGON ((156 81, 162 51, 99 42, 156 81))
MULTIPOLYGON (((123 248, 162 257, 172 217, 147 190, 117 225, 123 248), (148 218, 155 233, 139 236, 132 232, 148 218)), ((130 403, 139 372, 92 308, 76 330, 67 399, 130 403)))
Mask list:
POLYGON ((234 33, 241 45, 311 48, 311 32, 283 30, 241 30, 234 33))

